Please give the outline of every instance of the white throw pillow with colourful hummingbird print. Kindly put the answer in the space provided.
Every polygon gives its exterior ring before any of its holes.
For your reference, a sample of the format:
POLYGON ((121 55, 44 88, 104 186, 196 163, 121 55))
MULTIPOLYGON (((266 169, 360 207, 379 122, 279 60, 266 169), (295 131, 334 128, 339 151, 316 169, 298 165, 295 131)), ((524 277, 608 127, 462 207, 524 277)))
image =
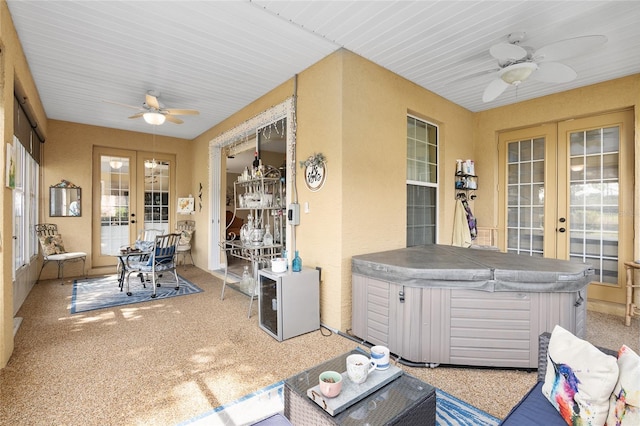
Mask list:
POLYGON ((558 325, 553 329, 542 393, 567 424, 605 424, 617 380, 615 357, 558 325))

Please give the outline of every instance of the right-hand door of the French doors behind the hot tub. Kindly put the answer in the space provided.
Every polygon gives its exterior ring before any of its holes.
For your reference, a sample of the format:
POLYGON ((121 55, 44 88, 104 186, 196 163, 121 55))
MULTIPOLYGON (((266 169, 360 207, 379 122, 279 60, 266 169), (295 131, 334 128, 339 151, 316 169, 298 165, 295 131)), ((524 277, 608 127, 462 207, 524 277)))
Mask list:
POLYGON ((570 212, 568 256, 593 266, 589 298, 614 303, 624 303, 624 261, 633 260, 633 214, 621 213, 633 211, 632 125, 630 112, 558 125, 569 165, 569 192, 558 200, 570 212))

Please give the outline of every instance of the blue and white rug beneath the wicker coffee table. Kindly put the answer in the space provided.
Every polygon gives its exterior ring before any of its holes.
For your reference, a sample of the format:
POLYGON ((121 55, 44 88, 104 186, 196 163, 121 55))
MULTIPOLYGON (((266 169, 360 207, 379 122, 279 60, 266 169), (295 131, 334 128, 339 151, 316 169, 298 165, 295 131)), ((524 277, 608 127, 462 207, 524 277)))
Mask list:
MULTIPOLYGON (((222 405, 180 426, 251 425, 284 412, 284 381, 222 405)), ((497 426, 500 420, 466 402, 436 389, 436 425, 497 426)))

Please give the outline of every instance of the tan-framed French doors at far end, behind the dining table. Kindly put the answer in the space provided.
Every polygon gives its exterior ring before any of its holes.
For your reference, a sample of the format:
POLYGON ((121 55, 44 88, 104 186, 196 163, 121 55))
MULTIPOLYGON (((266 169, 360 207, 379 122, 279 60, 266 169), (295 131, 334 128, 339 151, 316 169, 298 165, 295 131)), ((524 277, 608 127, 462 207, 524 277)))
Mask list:
POLYGON ((145 229, 173 229, 175 156, 96 147, 93 155, 95 267, 115 265, 120 247, 145 229))

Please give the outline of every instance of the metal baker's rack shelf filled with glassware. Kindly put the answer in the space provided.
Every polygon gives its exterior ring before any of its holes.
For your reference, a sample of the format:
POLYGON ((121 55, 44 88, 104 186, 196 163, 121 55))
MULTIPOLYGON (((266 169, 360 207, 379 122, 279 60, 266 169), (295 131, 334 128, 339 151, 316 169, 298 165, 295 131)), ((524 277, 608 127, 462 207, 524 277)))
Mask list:
MULTIPOLYGON (((234 217, 238 211, 246 211, 247 222, 242 225, 240 239, 223 242, 226 256, 251 262, 253 288, 246 293, 251 302, 257 296, 258 271, 271 266, 271 259, 282 255, 285 247, 285 204, 283 183, 280 177, 254 177, 233 183, 234 217)), ((221 299, 228 277, 228 261, 225 262, 225 277, 221 299)))

